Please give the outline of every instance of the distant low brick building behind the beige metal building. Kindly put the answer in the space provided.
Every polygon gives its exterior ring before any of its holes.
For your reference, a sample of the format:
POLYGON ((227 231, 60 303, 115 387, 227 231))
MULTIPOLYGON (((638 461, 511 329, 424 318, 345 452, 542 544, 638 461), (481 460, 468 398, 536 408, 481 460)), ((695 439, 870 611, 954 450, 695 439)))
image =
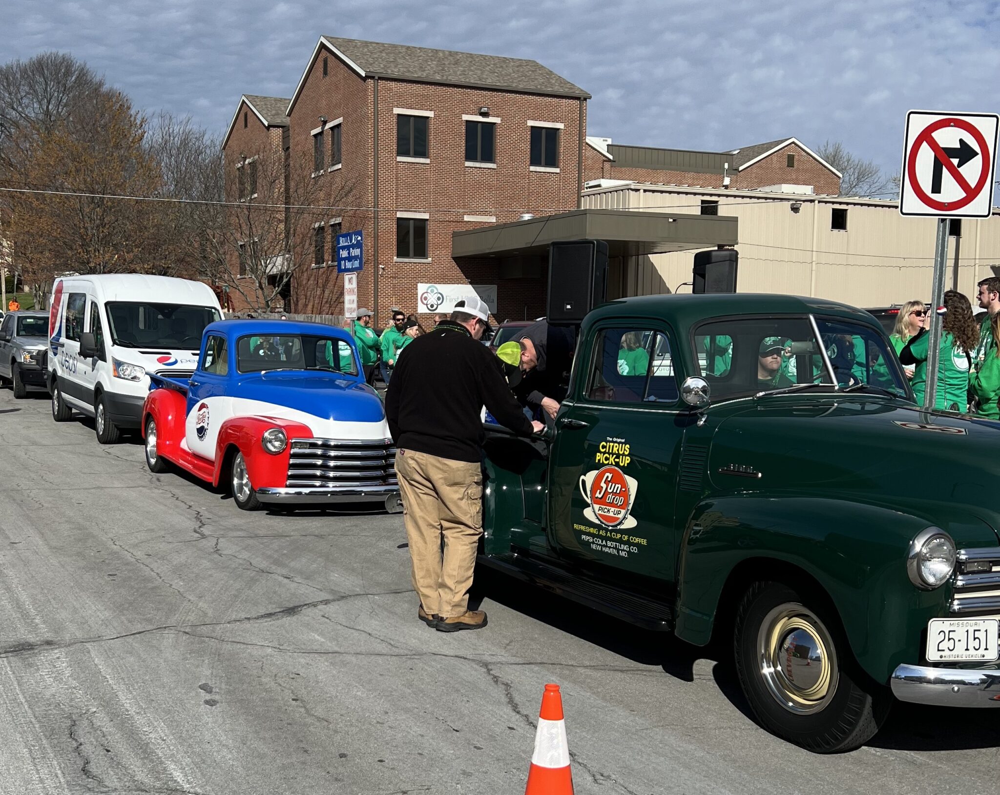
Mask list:
POLYGON ((797 193, 840 192, 840 173, 796 138, 727 152, 623 146, 608 138, 586 141, 587 184, 603 179, 732 190, 790 186, 797 193))

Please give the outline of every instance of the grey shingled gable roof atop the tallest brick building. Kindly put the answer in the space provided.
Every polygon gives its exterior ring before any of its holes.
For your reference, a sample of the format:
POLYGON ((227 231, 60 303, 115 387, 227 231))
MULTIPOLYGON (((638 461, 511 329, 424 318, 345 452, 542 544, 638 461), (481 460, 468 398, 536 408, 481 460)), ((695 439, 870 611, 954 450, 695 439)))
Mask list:
POLYGON ((302 79, 288 103, 286 113, 291 114, 306 75, 323 46, 362 78, 385 77, 420 83, 590 99, 590 94, 582 88, 537 61, 320 36, 302 79))

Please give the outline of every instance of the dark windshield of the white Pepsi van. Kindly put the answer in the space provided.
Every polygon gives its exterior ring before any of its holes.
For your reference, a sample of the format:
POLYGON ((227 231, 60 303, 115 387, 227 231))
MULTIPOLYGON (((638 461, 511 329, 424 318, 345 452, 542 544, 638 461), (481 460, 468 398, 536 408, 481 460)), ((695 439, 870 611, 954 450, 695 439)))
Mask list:
POLYGON ((126 348, 197 351, 205 326, 219 320, 210 306, 113 301, 107 304, 111 339, 126 348))

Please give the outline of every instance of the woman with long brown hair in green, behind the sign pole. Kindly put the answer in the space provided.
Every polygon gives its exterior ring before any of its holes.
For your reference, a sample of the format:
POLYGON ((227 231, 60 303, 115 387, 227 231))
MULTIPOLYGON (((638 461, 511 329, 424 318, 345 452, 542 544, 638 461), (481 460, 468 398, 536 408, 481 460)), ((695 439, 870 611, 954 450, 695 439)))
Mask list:
MULTIPOLYGON (((934 408, 948 411, 968 410, 969 366, 972 351, 979 343, 979 326, 972 317, 969 299, 956 290, 944 294, 945 315, 941 329, 941 353, 938 358, 937 396, 934 408)), ((925 324, 929 326, 930 324, 925 324)), ((930 337, 927 328, 912 337, 899 352, 899 361, 913 364, 911 386, 917 403, 924 402, 927 382, 927 351, 930 337)))

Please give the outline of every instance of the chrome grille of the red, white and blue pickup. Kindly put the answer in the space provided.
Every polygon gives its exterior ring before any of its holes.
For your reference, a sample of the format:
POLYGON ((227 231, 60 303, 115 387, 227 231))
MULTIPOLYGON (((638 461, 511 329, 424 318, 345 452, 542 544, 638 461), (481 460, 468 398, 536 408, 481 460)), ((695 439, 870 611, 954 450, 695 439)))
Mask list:
POLYGON ((288 486, 395 486, 395 461, 392 439, 293 439, 288 486))

